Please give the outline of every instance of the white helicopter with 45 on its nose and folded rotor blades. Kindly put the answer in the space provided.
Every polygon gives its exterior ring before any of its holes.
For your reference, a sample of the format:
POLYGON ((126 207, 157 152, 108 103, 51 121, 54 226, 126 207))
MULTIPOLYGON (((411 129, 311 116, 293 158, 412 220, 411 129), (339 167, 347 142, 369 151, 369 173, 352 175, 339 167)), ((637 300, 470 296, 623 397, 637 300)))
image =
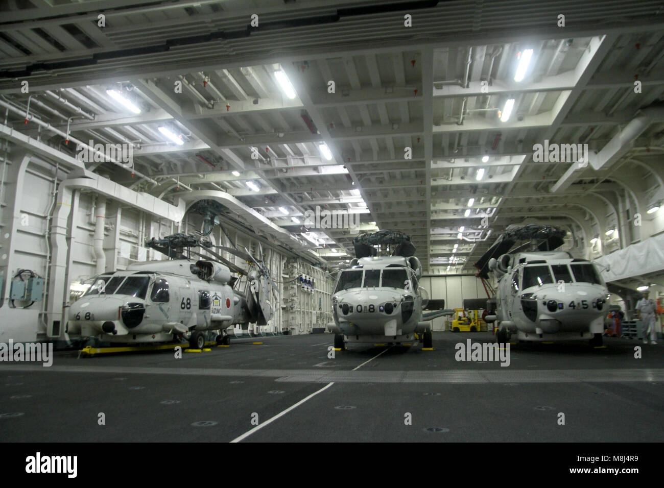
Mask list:
POLYGON ((493 272, 498 280, 485 316, 496 324, 498 343, 516 334, 519 341, 590 339, 591 345, 602 345, 609 291, 591 261, 555 251, 565 234, 554 226, 509 226, 475 263, 479 278, 487 280, 493 272))

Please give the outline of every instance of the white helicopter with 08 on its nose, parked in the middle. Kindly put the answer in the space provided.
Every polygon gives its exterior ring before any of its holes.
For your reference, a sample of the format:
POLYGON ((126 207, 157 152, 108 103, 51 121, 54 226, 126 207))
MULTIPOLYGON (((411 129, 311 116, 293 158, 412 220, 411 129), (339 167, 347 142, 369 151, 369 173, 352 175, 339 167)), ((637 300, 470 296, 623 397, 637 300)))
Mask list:
POLYGON ((356 258, 341 269, 332 296, 335 323, 328 328, 335 333, 335 349, 346 343, 396 343, 415 340, 420 334, 423 347, 432 347, 430 320, 452 315, 454 310, 423 313, 432 305, 426 290, 418 286, 422 266, 413 256, 415 246, 410 236, 401 232, 379 230, 353 240, 356 258), (378 246, 391 255, 376 256, 378 246))

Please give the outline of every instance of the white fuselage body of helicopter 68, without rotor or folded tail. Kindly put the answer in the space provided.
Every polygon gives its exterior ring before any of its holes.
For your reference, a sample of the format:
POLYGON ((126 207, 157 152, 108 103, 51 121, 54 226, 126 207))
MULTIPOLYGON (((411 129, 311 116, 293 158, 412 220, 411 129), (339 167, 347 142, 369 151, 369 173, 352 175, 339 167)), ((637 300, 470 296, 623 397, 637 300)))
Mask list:
POLYGON ((194 330, 224 331, 250 322, 245 295, 223 282, 230 277, 227 269, 215 265, 220 281, 214 276, 203 280, 192 266, 196 264, 188 260, 157 261, 96 276, 70 306, 69 335, 157 343, 194 330))

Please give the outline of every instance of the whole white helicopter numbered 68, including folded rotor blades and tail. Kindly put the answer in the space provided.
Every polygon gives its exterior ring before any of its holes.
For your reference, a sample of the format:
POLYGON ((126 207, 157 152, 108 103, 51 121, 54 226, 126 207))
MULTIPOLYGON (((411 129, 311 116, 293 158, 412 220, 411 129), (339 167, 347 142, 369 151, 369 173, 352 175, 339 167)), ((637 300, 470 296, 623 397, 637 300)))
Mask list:
POLYGON ((192 349, 201 349, 208 331, 218 331, 216 343, 228 345, 228 327, 250 322, 266 325, 272 318, 270 285, 275 289, 276 285, 264 263, 248 251, 214 246, 253 261, 256 268, 247 272, 212 251, 210 242, 195 236, 173 234, 153 238, 145 245, 174 259, 132 264, 125 271, 88 280, 90 288, 70 306, 70 337, 132 345, 184 337, 192 349), (218 261, 191 251, 196 246, 203 246, 218 261), (204 259, 187 259, 185 247, 190 248, 190 256, 204 259), (245 293, 234 289, 239 280, 231 272, 247 276, 245 293))

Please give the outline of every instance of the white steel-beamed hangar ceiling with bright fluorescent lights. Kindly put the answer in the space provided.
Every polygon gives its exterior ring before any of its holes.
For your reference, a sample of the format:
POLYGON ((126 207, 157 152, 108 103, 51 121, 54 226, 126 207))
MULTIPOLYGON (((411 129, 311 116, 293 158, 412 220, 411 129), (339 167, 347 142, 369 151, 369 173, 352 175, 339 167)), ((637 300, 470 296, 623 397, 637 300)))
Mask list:
POLYGON ((661 1, 4 8, 7 131, 68 156, 66 135, 131 145, 133 167, 86 168, 167 200, 224 191, 329 262, 348 259, 357 234, 305 226, 317 206, 359 214, 361 230, 407 232, 430 271, 471 272, 509 224, 606 223, 598 205, 664 176, 661 1), (587 144, 590 164, 535 161, 544 141, 587 144))

